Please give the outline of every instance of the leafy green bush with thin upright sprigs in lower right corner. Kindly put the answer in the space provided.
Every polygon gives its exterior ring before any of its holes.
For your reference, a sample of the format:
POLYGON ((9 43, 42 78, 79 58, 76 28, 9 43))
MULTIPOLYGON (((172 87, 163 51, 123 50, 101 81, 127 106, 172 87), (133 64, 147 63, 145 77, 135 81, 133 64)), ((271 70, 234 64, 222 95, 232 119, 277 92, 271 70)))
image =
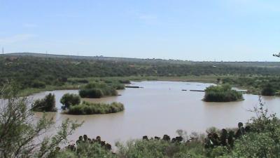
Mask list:
POLYGON ((268 114, 261 98, 260 106, 255 107, 256 117, 252 117, 247 126, 250 132, 235 143, 234 157, 279 157, 280 121, 276 114, 268 114))

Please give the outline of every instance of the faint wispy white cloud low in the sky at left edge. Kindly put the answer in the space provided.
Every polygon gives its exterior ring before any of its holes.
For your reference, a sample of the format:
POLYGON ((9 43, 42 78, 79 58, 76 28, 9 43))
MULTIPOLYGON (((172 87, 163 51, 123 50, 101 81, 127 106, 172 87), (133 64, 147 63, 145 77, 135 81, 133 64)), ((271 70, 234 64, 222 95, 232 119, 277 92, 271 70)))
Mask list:
POLYGON ((13 44, 20 41, 27 41, 33 37, 36 37, 34 34, 15 34, 10 37, 0 37, 0 44, 13 44))

